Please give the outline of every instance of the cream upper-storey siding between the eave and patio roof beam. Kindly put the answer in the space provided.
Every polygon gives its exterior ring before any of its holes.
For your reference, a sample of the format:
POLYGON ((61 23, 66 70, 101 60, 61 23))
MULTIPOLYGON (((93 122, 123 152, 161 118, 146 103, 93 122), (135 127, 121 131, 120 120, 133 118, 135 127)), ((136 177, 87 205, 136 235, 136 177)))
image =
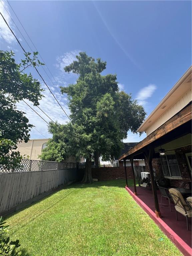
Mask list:
POLYGON ((146 129, 147 136, 155 131, 158 127, 164 124, 172 116, 177 114, 182 108, 184 108, 192 100, 191 90, 187 91, 177 102, 175 102, 170 108, 167 109, 154 123, 146 129))

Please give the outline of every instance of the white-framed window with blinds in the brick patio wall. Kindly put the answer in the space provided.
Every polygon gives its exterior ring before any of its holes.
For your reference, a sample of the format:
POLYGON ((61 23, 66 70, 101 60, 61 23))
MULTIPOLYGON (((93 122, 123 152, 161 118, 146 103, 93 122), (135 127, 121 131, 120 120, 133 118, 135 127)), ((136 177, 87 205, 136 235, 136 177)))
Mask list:
POLYGON ((161 156, 163 174, 168 179, 181 178, 177 158, 175 154, 161 156))

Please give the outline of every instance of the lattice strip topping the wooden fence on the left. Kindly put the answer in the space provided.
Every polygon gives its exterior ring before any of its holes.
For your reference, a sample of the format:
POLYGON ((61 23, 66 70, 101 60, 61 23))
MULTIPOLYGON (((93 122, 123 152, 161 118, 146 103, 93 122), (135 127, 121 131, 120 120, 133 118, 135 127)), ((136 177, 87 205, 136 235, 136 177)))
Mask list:
POLYGON ((1 172, 37 172, 47 170, 64 170, 70 168, 76 168, 76 163, 59 163, 55 161, 41 161, 41 160, 29 160, 22 159, 21 167, 17 169, 7 169, 6 166, 0 165, 1 172))

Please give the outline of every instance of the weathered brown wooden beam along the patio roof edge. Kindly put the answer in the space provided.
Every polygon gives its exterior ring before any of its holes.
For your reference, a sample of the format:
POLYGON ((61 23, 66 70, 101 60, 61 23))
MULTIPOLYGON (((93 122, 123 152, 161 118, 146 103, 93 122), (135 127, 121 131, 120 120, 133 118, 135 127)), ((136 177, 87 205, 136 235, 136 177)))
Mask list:
POLYGON ((167 122, 165 122, 163 125, 161 125, 159 128, 157 128, 154 132, 149 134, 145 139, 143 139, 141 142, 139 142, 135 147, 133 147, 128 152, 123 154, 119 158, 119 160, 122 160, 125 157, 128 157, 129 155, 131 155, 131 154, 137 152, 138 150, 142 149, 143 147, 149 145, 153 141, 163 137, 167 133, 178 128, 182 124, 190 121, 191 114, 192 114, 192 110, 191 110, 191 102, 190 102, 185 108, 183 108, 176 115, 171 117, 167 122))

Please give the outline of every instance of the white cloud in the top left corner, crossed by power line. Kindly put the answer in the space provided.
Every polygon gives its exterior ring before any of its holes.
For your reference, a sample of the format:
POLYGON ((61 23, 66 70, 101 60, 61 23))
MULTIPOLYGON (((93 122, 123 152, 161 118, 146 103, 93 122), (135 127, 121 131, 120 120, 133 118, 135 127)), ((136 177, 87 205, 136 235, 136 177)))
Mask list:
MULTIPOLYGON (((7 23, 9 24, 9 26, 11 27, 11 29, 13 29, 13 24, 11 22, 11 18, 9 16, 9 14, 7 13, 7 11, 9 12, 9 8, 8 5, 5 1, 2 0, 2 3, 0 4, 0 12, 2 13, 2 15, 4 16, 5 20, 7 21, 7 23), (2 4, 3 3, 3 4, 2 4), (5 8, 7 9, 7 11, 5 10, 5 8)), ((12 42, 15 41, 15 37, 13 36, 13 34, 11 33, 10 29, 8 28, 8 26, 6 25, 5 21, 3 20, 2 16, 0 15, 0 39, 4 39, 7 43, 11 44, 12 42)))

